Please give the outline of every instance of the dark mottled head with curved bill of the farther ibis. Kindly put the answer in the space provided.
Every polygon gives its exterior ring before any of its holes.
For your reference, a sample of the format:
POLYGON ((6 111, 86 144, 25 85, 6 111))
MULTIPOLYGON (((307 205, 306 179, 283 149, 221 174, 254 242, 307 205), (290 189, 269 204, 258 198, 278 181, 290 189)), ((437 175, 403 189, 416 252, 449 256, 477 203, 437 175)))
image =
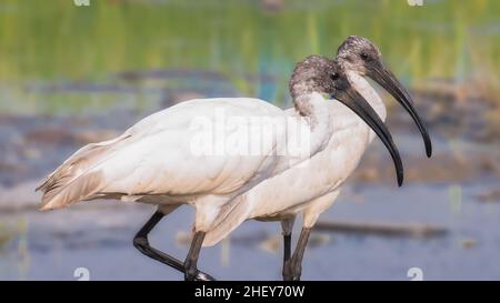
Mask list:
POLYGON ((368 75, 394 97, 417 123, 426 144, 426 153, 431 156, 432 143, 422 119, 413 107, 413 100, 396 75, 386 68, 382 54, 373 42, 363 37, 350 36, 337 50, 337 60, 346 70, 368 75))

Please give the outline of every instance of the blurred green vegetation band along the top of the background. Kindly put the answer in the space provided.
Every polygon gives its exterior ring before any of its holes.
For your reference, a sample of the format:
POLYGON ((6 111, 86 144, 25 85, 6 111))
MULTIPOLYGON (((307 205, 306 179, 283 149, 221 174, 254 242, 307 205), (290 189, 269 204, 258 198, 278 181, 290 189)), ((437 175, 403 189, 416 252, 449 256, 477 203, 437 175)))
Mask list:
MULTIPOLYGON (((266 0, 90 2, 2 0, 0 85, 106 81, 123 70, 182 68, 221 72, 244 94, 261 89, 244 74, 271 74, 282 83, 274 94, 282 99, 294 62, 311 53, 333 55, 347 36, 358 34, 373 40, 409 84, 474 81, 500 99, 498 0, 429 0, 423 7, 406 0, 284 0, 274 1, 282 8, 272 12, 266 0)), ((21 89, 9 97, 38 99, 21 89)))

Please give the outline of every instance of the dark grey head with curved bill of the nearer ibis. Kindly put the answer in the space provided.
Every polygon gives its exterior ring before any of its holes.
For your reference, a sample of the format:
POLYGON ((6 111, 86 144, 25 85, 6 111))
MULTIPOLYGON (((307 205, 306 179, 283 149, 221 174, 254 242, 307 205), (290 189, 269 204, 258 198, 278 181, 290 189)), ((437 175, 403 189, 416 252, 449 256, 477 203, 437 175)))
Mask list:
POLYGON ((402 184, 402 162, 389 130, 367 100, 351 87, 346 68, 338 60, 310 55, 299 62, 290 80, 290 92, 294 100, 313 92, 321 93, 350 108, 377 133, 389 150, 394 161, 398 184, 402 184))

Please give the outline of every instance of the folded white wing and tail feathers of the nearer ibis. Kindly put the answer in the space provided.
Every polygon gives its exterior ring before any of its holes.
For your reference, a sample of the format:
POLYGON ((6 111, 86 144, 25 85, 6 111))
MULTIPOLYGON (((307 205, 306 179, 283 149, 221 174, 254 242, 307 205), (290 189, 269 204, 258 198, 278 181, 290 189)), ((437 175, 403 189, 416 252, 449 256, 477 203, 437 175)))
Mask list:
MULTIPOLYGON (((89 144, 76 152, 39 186, 44 192, 42 209, 102 194, 227 194, 251 186, 283 162, 273 153, 283 137, 271 138, 259 154, 228 156, 217 154, 217 149, 212 153, 200 149, 200 138, 207 135, 204 127, 217 128, 221 119, 233 119, 231 128, 222 128, 223 137, 239 138, 247 133, 251 141, 258 140, 254 137, 259 132, 248 134, 249 119, 282 115, 281 109, 258 99, 200 99, 180 103, 141 120, 114 140, 89 144)), ((219 141, 216 140, 216 147, 219 141)))

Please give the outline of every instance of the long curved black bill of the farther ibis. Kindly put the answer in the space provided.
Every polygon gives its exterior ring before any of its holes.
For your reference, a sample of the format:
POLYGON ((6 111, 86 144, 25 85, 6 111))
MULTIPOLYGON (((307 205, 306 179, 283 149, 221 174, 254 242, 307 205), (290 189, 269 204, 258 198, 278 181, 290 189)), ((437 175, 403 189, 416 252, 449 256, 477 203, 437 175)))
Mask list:
POLYGON ((371 74, 369 73, 368 75, 384 88, 390 94, 392 94, 392 97, 411 115, 414 123, 419 128, 420 133, 422 134, 427 156, 430 158, 432 155, 432 142, 422 119, 417 113, 417 110, 413 107, 413 101, 404 87, 398 81, 396 75, 390 70, 386 69, 381 63, 378 63, 376 68, 372 69, 371 74))

